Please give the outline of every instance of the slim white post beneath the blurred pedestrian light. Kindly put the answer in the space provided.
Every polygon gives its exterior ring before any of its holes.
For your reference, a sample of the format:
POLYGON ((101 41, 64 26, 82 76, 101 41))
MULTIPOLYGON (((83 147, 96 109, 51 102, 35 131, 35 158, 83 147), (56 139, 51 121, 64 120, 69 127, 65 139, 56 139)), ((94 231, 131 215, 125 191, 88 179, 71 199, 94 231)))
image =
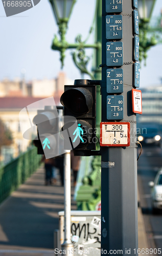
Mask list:
POLYGON ((73 254, 71 243, 71 152, 64 155, 64 242, 61 245, 66 255, 73 254))

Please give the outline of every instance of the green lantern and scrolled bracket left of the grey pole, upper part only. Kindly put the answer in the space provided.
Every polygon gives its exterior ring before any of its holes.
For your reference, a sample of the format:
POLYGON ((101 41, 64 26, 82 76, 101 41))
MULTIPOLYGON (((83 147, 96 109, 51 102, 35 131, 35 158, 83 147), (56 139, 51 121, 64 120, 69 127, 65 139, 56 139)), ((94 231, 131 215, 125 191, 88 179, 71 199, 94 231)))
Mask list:
POLYGON ((89 38, 89 35, 92 33, 92 30, 94 28, 96 16, 97 16, 97 7, 98 3, 101 2, 101 0, 97 0, 96 4, 96 11, 95 11, 95 17, 93 24, 90 28, 89 34, 86 38, 86 40, 82 41, 81 35, 78 35, 75 39, 74 44, 69 44, 65 39, 65 34, 67 30, 67 23, 70 19, 74 4, 76 3, 76 0, 49 0, 52 9, 54 11, 54 15, 56 18, 56 22, 59 27, 59 34, 60 34, 60 40, 57 38, 57 35, 54 36, 53 42, 52 42, 52 49, 60 51, 60 60, 61 60, 61 68, 63 68, 64 65, 64 58, 65 58, 65 51, 66 49, 76 49, 75 52, 72 53, 73 60, 75 62, 75 65, 77 68, 81 71, 82 74, 88 74, 92 80, 94 80, 94 74, 92 72, 89 72, 87 70, 87 64, 89 61, 89 57, 85 54, 85 48, 94 48, 96 50, 101 49, 101 42, 97 41, 95 44, 86 44, 86 41, 89 38))

